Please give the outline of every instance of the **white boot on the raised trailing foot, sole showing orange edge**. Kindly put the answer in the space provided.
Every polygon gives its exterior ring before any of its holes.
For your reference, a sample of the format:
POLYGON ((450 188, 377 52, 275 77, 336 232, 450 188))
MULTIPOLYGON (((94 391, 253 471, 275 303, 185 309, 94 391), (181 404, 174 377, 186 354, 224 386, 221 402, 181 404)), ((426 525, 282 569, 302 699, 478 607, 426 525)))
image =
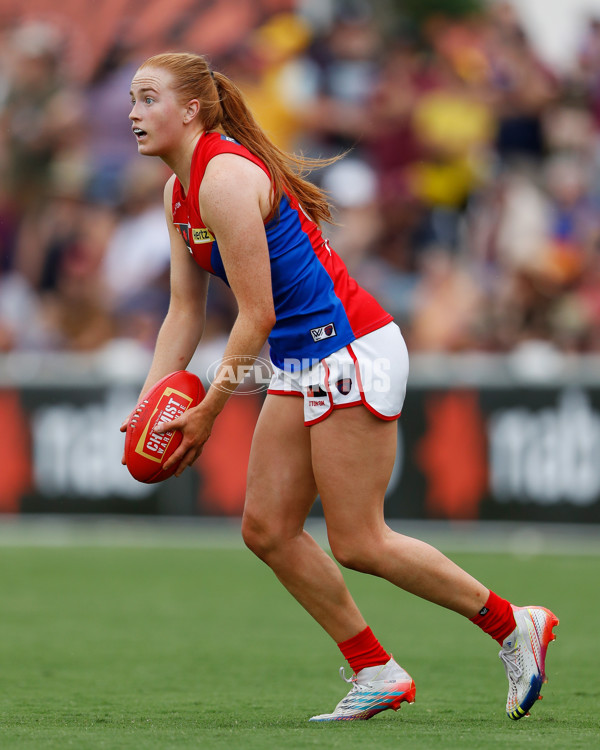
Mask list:
POLYGON ((508 677, 506 713, 510 719, 529 716, 529 709, 541 700, 546 679, 546 651, 555 640, 552 629, 558 617, 544 607, 513 607, 517 627, 502 643, 498 654, 508 677))

